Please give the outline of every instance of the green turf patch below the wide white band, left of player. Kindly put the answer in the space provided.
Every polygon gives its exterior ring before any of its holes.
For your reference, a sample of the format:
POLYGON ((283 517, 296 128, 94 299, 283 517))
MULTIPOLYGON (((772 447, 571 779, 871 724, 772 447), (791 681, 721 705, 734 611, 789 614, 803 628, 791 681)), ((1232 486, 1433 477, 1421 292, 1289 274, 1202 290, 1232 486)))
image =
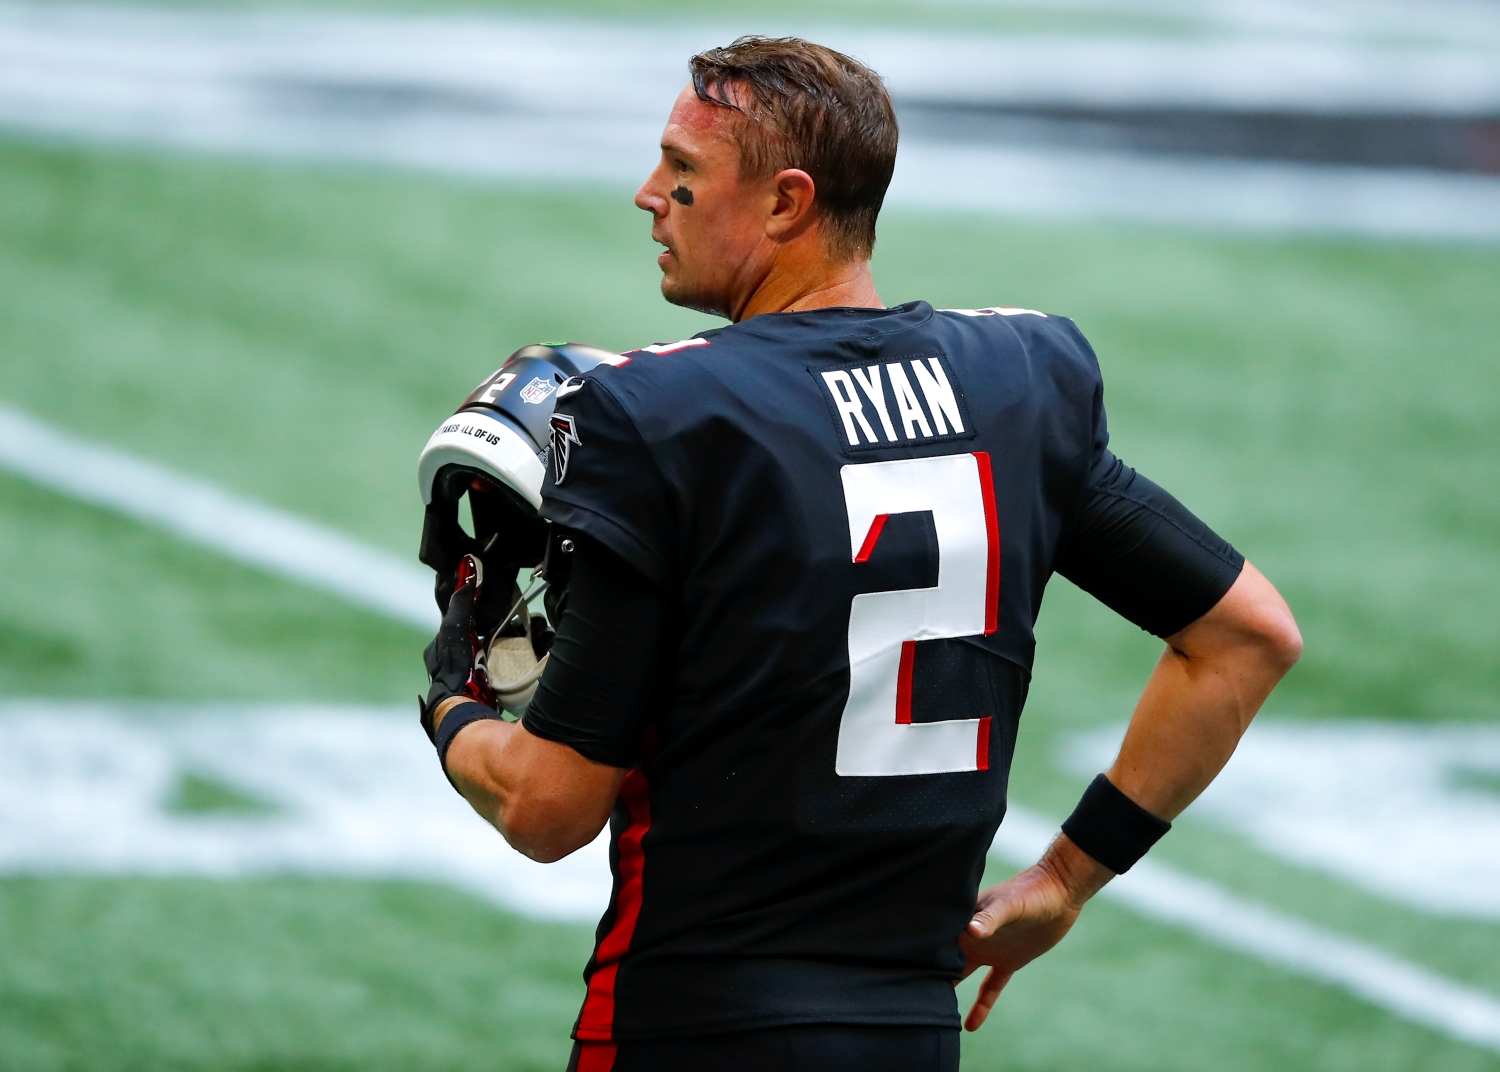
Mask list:
POLYGON ((0 1066, 558 1072, 591 934, 414 883, 0 882, 0 1066))

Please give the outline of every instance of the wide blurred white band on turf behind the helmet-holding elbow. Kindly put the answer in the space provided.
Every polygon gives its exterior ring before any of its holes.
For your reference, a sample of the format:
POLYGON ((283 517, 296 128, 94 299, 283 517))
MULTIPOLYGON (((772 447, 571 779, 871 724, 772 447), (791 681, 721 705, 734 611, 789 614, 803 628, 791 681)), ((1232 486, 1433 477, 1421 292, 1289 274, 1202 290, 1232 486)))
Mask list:
POLYGON ((414 708, 0 702, 0 871, 333 874, 446 882, 507 909, 592 921, 608 837, 542 865, 444 781, 414 708), (183 775, 268 814, 183 814, 183 775))

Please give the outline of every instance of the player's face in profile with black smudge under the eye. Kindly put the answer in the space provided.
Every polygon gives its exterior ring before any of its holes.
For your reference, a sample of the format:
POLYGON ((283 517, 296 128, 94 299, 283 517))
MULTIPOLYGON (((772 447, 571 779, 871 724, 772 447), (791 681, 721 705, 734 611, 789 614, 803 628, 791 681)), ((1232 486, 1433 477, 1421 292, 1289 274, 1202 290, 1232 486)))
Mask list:
POLYGON ((651 213, 651 238, 666 246, 657 256, 662 295, 718 316, 732 316, 768 252, 768 193, 765 183, 740 181, 736 118, 684 88, 662 133, 662 160, 636 192, 636 205, 651 213))

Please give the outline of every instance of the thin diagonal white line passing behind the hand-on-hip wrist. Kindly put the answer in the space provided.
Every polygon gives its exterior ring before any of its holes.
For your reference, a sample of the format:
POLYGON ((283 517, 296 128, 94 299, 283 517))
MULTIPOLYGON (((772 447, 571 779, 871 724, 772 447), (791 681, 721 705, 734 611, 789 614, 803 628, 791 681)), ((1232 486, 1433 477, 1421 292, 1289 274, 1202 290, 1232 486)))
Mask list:
MULTIPOLYGON (((1011 807, 994 855, 1029 867, 1058 826, 1011 807)), ((1101 897, 1180 927, 1215 945, 1347 990, 1371 1005, 1443 1035, 1500 1053, 1500 1000, 1380 949, 1230 894, 1166 864, 1144 859, 1101 897)))

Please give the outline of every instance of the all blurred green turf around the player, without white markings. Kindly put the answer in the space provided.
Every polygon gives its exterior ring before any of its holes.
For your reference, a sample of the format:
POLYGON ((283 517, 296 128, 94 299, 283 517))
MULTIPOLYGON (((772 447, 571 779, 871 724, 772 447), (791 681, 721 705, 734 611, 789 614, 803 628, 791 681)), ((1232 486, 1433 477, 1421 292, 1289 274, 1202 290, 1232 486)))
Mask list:
MULTIPOLYGON (((678 12, 567 7, 636 28, 678 12)), ((1167 4, 772 3, 712 16, 726 37, 772 16, 1112 39, 1221 30, 1167 4)), ((564 337, 624 349, 711 324, 657 295, 646 219, 618 181, 268 162, 10 127, 0 402, 392 555, 416 552, 417 451, 512 349, 564 337)), ((891 304, 1024 306, 1083 327, 1116 451, 1228 535, 1298 612, 1306 657, 1266 721, 1347 726, 1350 741, 1372 726, 1494 741, 1500 246, 892 205, 876 276, 891 304)), ((45 700, 56 720, 80 702, 410 708, 426 640, 0 471, 0 694, 45 700)), ((1053 817, 1071 807, 1088 775, 1070 742, 1122 723, 1155 652, 1054 585, 1017 804, 1053 817)), ((414 715, 410 745, 428 747, 414 715)), ((1330 754, 1359 775, 1358 748, 1330 754)), ((1500 759, 1476 745, 1442 775, 1422 792, 1456 808, 1455 841, 1494 873, 1500 759)), ((278 807, 194 771, 174 778, 159 804, 183 822, 254 825, 278 807)), ((0 807, 0 867, 6 840, 38 819, 27 807, 0 807)), ((1190 811, 1155 856, 1500 1002, 1500 895, 1422 907, 1420 894, 1383 895, 1275 852, 1222 814, 1190 811)), ((111 813, 84 822, 108 828, 111 813)), ((0 1068, 566 1063, 588 922, 411 877, 204 877, 128 859, 4 870, 0 1068)), ((964 1068, 1446 1072, 1500 1069, 1500 1050, 1100 903, 966 1038, 964 1068)))

